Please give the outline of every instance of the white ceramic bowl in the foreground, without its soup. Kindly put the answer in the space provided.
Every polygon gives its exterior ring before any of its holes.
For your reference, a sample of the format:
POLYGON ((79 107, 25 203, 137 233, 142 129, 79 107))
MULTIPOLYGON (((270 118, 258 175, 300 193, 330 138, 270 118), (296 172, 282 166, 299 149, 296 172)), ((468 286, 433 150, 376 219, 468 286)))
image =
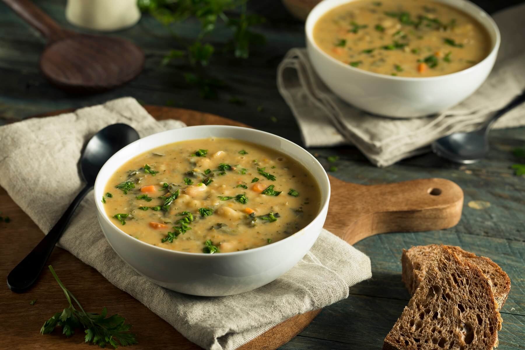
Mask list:
MULTIPOLYGON (((194 150, 188 150, 188 152, 194 150)), ((177 292, 219 296, 243 293, 261 287, 290 270, 310 250, 327 216, 330 182, 319 162, 295 143, 255 129, 202 125, 164 131, 135 141, 114 154, 95 182, 95 203, 100 227, 109 244, 135 271, 152 282, 177 292), (166 144, 230 137, 285 153, 309 169, 321 190, 317 216, 302 230, 267 246, 231 253, 188 253, 155 247, 126 234, 108 218, 100 199, 111 175, 131 158, 166 144)))

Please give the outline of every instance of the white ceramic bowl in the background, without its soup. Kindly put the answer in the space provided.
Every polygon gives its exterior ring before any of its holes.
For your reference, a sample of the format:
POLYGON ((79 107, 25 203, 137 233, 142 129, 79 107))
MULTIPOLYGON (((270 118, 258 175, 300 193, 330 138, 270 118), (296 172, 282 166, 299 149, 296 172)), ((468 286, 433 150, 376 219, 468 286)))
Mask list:
POLYGON ((313 68, 337 96, 364 111, 409 118, 445 111, 463 101, 487 79, 498 54, 498 26, 481 8, 466 0, 435 0, 465 12, 488 32, 491 49, 476 65, 437 77, 394 77, 345 65, 316 44, 313 29, 320 17, 334 7, 359 0, 323 0, 306 20, 306 46, 313 68))

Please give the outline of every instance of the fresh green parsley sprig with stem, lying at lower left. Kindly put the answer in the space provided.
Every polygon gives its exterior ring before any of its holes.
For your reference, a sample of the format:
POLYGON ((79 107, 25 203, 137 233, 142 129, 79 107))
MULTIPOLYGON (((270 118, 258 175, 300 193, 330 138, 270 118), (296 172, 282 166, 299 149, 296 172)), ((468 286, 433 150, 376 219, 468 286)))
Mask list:
POLYGON ((135 334, 130 332, 131 325, 125 323, 125 319, 118 314, 106 317, 108 310, 106 307, 102 309, 100 314, 88 313, 84 311, 82 305, 78 302, 75 295, 73 295, 58 278, 55 270, 49 265, 49 270, 57 281, 58 285, 64 291, 66 299, 69 302, 69 307, 64 311, 55 313, 44 325, 40 328, 40 334, 51 333, 56 326, 62 328, 62 333, 67 337, 75 333, 77 328, 84 328, 86 333, 86 343, 93 343, 100 347, 111 345, 113 348, 118 346, 127 346, 137 344, 135 334), (78 309, 73 304, 73 301, 78 305, 78 309))

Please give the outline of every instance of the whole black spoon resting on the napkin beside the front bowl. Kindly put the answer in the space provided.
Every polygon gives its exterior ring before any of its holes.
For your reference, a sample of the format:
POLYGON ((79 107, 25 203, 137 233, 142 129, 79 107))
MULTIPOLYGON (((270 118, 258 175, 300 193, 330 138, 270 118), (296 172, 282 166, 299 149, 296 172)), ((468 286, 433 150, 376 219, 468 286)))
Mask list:
POLYGON ((122 147, 139 139, 140 137, 137 131, 126 124, 106 126, 106 128, 91 137, 80 157, 81 174, 86 181, 86 186, 82 188, 80 193, 73 199, 69 208, 67 208, 64 215, 58 219, 46 237, 38 243, 35 249, 27 254, 24 260, 20 261, 20 263, 9 272, 7 276, 7 287, 9 287, 10 290, 17 293, 25 292, 35 283, 47 259, 51 255, 53 248, 55 248, 58 239, 62 236, 62 232, 66 229, 75 209, 80 204, 82 198, 84 198, 93 188, 93 185, 95 185, 95 179, 102 165, 104 165, 113 154, 122 149, 122 147))

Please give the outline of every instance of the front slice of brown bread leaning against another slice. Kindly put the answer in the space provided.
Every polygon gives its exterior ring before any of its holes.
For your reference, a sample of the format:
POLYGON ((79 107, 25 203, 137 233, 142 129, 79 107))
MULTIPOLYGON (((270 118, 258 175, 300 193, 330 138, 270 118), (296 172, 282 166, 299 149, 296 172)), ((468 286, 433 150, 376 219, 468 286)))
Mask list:
POLYGON ((499 330, 490 281, 477 266, 440 247, 383 350, 492 350, 499 330))

